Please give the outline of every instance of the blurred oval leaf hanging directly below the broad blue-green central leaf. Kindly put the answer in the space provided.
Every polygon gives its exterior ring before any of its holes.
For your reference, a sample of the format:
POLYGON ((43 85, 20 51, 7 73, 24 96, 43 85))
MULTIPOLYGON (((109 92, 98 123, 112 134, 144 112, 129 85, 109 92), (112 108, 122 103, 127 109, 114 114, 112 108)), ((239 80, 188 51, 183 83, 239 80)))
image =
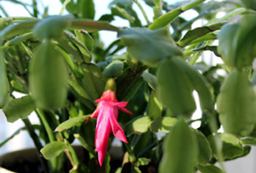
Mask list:
MULTIPOLYGON (((177 58, 175 58, 177 59, 177 58)), ((190 117, 196 109, 192 96, 194 89, 187 74, 180 68, 174 57, 165 59, 157 71, 159 98, 172 114, 190 117)))

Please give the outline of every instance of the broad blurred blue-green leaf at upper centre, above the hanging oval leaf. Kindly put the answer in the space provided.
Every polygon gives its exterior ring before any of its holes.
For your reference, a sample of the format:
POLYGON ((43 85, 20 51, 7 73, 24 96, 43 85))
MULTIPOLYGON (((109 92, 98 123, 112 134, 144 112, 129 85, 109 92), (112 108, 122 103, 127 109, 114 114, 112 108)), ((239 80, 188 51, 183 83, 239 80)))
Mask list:
POLYGON ((182 49, 176 46, 165 28, 151 31, 146 28, 125 28, 118 32, 127 52, 148 66, 153 66, 162 59, 183 55, 182 49), (152 49, 153 47, 153 49, 152 49))

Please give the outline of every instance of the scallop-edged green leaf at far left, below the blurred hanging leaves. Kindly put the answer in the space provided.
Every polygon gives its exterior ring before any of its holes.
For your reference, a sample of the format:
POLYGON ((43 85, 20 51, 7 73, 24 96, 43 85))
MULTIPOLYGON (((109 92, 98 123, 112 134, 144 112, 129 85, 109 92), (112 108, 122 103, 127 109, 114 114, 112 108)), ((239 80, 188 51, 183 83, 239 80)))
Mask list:
POLYGON ((19 99, 11 100, 4 108, 3 112, 10 123, 19 118, 27 118, 37 107, 31 96, 24 96, 19 99))

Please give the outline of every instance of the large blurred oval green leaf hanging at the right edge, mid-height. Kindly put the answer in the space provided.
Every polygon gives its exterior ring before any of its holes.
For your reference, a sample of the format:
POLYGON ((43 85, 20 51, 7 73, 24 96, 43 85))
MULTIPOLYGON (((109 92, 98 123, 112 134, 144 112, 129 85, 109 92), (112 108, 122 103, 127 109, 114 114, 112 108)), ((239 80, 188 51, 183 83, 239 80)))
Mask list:
POLYGON ((246 72, 234 69, 222 83, 217 97, 219 120, 226 132, 242 137, 252 132, 256 119, 255 98, 246 72))

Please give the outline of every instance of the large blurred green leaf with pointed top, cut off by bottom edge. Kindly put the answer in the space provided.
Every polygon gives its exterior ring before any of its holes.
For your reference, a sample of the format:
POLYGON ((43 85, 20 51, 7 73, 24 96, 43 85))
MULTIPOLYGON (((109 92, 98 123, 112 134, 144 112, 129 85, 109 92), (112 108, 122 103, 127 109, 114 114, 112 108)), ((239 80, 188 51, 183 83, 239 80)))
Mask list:
POLYGON ((195 135, 181 118, 165 138, 159 173, 193 173, 197 154, 195 135))

